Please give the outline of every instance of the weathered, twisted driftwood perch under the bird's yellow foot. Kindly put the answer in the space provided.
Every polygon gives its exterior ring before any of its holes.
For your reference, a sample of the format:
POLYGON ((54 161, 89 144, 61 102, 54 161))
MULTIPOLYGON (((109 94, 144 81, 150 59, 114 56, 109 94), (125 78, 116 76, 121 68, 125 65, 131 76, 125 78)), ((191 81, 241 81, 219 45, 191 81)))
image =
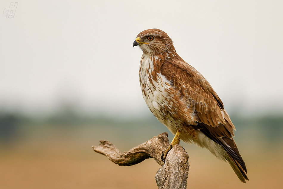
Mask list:
POLYGON ((100 140, 100 145, 92 146, 92 148, 95 152, 105 155, 112 162, 122 166, 135 165, 145 159, 154 158, 162 166, 155 176, 159 189, 186 189, 189 156, 184 148, 175 145, 167 154, 164 164, 161 154, 168 146, 168 133, 164 132, 124 153, 108 140, 100 140))

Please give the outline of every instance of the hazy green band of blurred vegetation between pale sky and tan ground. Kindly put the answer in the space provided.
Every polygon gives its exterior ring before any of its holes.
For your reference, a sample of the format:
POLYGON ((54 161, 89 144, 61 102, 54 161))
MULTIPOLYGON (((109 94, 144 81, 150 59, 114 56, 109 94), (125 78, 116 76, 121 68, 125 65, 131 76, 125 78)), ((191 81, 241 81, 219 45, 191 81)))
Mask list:
MULTIPOLYGON (((231 114, 230 117, 237 129, 235 140, 238 145, 264 145, 266 148, 282 146, 282 115, 243 117, 231 114)), ((85 140, 94 142, 107 139, 116 141, 127 150, 164 131, 169 132, 153 115, 121 119, 103 115, 87 117, 73 111, 61 112, 46 118, 0 114, 0 146, 6 149, 26 141, 50 142, 72 139, 80 143, 85 140)))

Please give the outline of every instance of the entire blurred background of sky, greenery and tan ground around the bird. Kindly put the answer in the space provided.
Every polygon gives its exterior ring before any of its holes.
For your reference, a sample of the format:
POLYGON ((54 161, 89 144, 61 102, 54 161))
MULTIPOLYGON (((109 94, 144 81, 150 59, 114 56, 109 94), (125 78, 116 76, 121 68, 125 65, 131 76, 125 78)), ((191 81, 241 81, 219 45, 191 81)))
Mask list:
POLYGON ((0 2, 0 188, 158 188, 153 159, 119 167, 91 148, 128 151, 169 132, 139 86, 132 44, 149 28, 167 32, 222 99, 248 169, 242 184, 181 142, 188 188, 282 187, 283 1, 10 3, 0 2))

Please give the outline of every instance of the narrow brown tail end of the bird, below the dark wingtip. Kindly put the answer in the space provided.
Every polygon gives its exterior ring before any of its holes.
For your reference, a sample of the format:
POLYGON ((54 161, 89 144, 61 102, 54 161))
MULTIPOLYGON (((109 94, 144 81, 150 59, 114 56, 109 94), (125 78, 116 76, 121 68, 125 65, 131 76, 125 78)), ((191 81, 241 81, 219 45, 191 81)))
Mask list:
MULTIPOLYGON (((240 157, 240 161, 242 161, 242 162, 238 162, 238 160, 233 158, 229 153, 227 153, 227 154, 228 154, 227 161, 231 165, 232 169, 234 170, 234 172, 236 173, 238 178, 243 183, 246 183, 246 180, 249 180, 249 179, 248 179, 248 176, 247 176, 246 167, 242 167, 242 165, 241 165, 242 163, 244 163, 242 157, 240 157)), ((245 163, 244 163, 244 165, 245 165, 245 163)))

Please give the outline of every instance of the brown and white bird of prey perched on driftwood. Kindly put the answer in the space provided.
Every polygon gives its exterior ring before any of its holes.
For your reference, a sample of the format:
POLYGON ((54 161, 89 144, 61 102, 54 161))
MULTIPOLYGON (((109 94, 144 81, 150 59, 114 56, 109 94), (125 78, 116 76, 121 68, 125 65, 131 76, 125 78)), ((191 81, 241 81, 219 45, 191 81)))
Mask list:
POLYGON ((236 143, 229 115, 208 81, 176 52, 171 38, 162 30, 140 32, 133 47, 143 51, 139 81, 143 98, 155 117, 175 134, 162 159, 180 139, 207 148, 228 161, 242 182, 247 169, 236 143))

